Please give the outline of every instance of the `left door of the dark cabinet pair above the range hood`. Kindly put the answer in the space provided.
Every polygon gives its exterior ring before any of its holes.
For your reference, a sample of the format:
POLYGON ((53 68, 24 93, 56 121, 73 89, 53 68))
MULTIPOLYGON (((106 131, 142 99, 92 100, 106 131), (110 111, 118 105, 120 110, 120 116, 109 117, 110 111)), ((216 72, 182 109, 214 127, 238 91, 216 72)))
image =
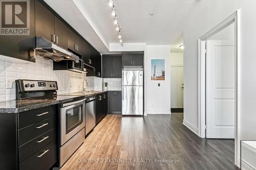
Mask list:
POLYGON ((35 1, 35 36, 44 37, 49 41, 52 40, 54 34, 54 14, 42 5, 39 1, 35 1))

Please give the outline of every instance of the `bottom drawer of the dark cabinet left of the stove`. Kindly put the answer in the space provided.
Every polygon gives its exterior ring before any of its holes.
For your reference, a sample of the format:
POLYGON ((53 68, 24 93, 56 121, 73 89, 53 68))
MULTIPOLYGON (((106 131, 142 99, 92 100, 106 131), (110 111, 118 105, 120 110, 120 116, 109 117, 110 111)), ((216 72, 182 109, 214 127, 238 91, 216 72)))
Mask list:
POLYGON ((56 141, 51 142, 46 147, 40 149, 24 162, 19 164, 20 170, 36 169, 48 170, 57 162, 56 141))

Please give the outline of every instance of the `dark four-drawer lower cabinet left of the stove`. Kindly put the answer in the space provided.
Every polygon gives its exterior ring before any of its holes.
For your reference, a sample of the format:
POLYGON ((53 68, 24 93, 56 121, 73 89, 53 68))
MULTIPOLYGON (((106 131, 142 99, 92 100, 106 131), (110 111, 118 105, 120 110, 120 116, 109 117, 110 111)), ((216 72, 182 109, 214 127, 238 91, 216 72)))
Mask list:
POLYGON ((58 159, 57 106, 0 114, 0 138, 0 169, 50 169, 58 159))

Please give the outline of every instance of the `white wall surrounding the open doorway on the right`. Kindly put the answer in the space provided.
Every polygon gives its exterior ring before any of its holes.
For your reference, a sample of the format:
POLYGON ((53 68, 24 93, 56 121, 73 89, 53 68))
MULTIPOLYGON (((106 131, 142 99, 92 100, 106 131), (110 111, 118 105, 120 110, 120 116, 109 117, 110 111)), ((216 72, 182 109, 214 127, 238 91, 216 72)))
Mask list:
MULTIPOLYGON (((256 139, 256 2, 198 1, 184 27, 184 119, 198 128, 198 38, 241 9, 241 139, 256 139)), ((239 143, 238 143, 239 144, 239 143)), ((239 155, 237 155, 239 156, 239 155)))

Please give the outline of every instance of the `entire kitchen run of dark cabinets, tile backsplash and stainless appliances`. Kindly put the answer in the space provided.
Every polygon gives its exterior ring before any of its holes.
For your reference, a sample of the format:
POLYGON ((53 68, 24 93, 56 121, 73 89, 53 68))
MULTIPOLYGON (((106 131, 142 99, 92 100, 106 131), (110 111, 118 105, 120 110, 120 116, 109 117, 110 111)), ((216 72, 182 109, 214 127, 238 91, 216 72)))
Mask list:
POLYGON ((143 51, 101 55, 44 1, 27 3, 29 35, 1 35, 1 169, 61 167, 106 114, 143 115, 143 51))

